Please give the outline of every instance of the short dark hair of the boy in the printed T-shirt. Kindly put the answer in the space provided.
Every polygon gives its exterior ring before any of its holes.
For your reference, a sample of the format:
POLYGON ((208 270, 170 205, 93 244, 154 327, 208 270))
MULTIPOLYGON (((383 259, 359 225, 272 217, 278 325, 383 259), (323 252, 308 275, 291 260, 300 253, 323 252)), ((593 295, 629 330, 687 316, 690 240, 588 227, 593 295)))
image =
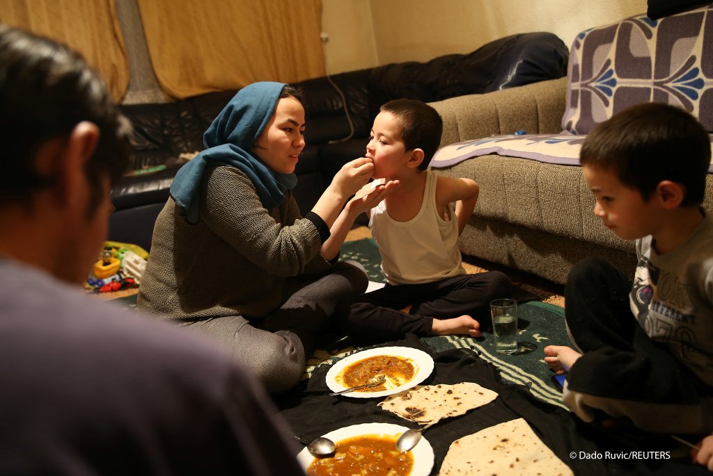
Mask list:
POLYGON ((660 102, 632 106, 602 122, 580 152, 580 164, 615 171, 645 200, 661 181, 681 184, 682 206, 702 203, 710 159, 710 139, 700 122, 660 102))

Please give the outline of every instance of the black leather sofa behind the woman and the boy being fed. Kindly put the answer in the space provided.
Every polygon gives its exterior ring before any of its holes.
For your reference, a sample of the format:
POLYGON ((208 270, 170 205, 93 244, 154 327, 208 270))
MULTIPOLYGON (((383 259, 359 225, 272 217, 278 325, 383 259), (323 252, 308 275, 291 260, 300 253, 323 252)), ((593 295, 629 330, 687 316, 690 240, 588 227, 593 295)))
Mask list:
MULTIPOLYGON (((393 63, 297 83, 304 90, 307 131, 294 195, 309 211, 337 170, 365 153, 371 123, 384 102, 408 98, 432 102, 491 92, 567 74, 568 48, 552 33, 501 38, 468 54, 443 55, 426 63, 393 63)), ((123 106, 133 122, 135 170, 165 169, 125 177, 112 189, 116 211, 109 239, 150 248, 153 223, 183 162, 182 153, 202 150, 202 134, 235 95, 212 92, 163 104, 123 106)))

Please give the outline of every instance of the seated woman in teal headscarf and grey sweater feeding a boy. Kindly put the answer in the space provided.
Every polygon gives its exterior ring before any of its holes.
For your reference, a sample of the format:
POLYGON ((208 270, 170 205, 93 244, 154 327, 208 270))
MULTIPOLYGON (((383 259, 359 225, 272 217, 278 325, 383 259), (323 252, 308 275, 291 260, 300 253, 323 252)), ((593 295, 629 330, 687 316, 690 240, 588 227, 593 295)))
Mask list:
POLYGON ((141 310, 226 344, 271 393, 297 383, 339 303, 366 289, 363 270, 335 263, 339 248, 354 218, 396 186, 347 203, 374 167, 356 159, 302 218, 291 190, 303 134, 297 91, 240 90, 175 176, 138 295, 141 310))

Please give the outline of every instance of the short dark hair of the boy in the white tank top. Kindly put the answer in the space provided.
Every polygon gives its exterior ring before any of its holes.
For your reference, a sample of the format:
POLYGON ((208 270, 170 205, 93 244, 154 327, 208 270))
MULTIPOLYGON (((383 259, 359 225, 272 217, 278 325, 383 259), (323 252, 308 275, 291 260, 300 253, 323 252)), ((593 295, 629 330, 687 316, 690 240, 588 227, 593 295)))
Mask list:
POLYGON ((390 112, 401 122, 401 140, 406 150, 422 149, 424 161, 419 169, 426 170, 441 145, 443 120, 436 110, 425 102, 395 99, 381 106, 381 112, 390 112))

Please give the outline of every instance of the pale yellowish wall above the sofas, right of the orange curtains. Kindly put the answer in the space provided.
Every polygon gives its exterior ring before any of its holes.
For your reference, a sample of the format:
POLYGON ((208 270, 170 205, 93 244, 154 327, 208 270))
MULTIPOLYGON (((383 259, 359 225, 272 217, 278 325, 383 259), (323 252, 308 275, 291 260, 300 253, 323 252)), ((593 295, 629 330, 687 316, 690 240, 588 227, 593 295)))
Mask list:
POLYGON ((469 53, 530 31, 550 31, 570 46, 585 28, 646 8, 646 0, 322 0, 327 71, 469 53))

